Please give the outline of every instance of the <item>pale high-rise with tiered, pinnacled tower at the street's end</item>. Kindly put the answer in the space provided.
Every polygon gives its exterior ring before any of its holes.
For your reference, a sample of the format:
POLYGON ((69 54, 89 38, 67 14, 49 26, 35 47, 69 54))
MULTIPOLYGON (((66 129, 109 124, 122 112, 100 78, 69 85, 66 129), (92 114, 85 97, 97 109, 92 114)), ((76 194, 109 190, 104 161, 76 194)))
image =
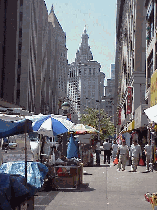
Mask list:
POLYGON ((103 92, 100 87, 101 66, 93 60, 86 32, 85 28, 75 62, 71 63, 69 67, 67 84, 67 94, 73 108, 72 114, 78 115, 78 121, 86 107, 99 108, 100 95, 103 92))

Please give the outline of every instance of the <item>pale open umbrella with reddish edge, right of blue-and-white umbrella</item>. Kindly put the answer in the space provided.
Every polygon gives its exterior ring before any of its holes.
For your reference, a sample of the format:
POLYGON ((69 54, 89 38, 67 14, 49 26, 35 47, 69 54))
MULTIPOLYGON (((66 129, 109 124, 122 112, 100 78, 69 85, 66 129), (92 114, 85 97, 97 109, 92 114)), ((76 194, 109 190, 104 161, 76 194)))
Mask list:
POLYGON ((76 124, 72 127, 72 129, 70 129, 70 132, 74 132, 75 134, 85 134, 98 133, 99 131, 89 125, 76 124))

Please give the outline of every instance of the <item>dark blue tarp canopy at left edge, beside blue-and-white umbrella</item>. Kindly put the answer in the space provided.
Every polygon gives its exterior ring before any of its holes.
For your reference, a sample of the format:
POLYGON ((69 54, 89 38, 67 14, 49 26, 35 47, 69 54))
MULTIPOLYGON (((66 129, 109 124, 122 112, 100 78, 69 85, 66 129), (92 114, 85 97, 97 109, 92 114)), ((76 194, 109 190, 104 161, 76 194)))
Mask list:
POLYGON ((0 119, 0 138, 22 134, 25 131, 27 133, 33 131, 30 120, 5 121, 0 119))

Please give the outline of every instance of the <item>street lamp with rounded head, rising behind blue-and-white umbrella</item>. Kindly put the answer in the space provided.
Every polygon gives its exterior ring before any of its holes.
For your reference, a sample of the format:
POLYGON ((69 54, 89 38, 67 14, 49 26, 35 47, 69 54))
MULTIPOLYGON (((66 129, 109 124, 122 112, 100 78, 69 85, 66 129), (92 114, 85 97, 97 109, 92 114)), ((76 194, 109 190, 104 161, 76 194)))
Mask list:
MULTIPOLYGON (((68 116, 70 112, 70 104, 68 102, 64 102, 62 105, 63 115, 68 116)), ((67 156, 67 133, 63 134, 63 155, 67 156)))

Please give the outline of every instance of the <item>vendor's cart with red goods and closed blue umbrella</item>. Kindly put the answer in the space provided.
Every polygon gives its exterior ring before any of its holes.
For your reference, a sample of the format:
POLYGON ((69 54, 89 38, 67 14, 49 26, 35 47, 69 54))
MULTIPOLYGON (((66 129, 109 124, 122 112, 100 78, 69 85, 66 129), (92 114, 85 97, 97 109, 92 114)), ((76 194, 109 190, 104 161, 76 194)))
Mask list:
POLYGON ((46 163, 49 168, 48 179, 52 188, 77 188, 82 183, 83 164, 77 157, 77 147, 72 135, 67 149, 67 157, 63 154, 58 156, 56 146, 52 146, 50 158, 46 163))

